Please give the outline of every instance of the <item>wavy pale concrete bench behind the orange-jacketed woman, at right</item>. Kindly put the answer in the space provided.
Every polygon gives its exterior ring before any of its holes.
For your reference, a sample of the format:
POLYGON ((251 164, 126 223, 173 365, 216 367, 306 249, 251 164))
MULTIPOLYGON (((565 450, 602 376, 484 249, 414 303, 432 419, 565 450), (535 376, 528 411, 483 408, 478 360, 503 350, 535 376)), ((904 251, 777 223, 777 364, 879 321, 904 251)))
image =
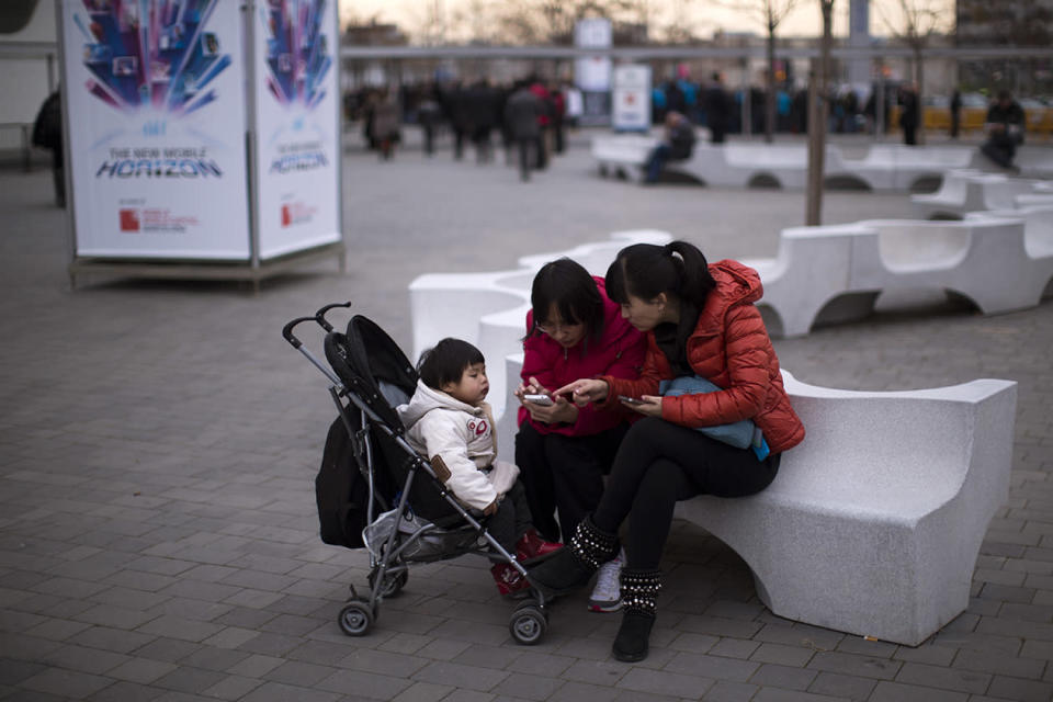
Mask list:
POLYGON ((774 259, 743 262, 760 273, 769 333, 794 337, 863 318, 893 291, 943 290, 983 314, 1033 307, 1051 263, 1032 250, 1020 218, 881 219, 783 229, 774 259))

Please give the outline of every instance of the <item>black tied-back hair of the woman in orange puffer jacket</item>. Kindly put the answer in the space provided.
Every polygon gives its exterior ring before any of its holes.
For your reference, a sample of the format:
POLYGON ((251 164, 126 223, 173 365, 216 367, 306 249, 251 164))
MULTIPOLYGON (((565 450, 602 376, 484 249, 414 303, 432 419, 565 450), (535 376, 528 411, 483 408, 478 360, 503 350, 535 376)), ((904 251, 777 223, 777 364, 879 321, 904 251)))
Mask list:
POLYGON ((630 295, 652 301, 672 293, 702 309, 714 287, 705 257, 687 241, 634 244, 619 251, 607 270, 607 296, 620 305, 629 303, 630 295))

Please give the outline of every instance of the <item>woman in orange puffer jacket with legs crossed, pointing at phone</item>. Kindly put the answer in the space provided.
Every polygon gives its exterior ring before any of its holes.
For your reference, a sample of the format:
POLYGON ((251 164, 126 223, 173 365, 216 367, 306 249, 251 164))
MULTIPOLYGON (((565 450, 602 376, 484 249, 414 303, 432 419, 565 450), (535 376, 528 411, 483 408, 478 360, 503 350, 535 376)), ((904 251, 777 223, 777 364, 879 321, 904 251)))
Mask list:
POLYGON ((754 306, 762 293, 756 271, 729 260, 709 265, 686 241, 638 244, 619 252, 607 272, 607 290, 622 316, 647 332, 643 372, 637 380, 582 377, 555 392, 570 393, 579 406, 631 407, 644 419, 619 448, 596 511, 579 523, 567 548, 530 576, 550 595, 580 587, 618 550, 618 531, 627 518, 624 614, 613 654, 632 661, 647 656, 661 588, 658 565, 676 502, 759 492, 774 479, 781 453, 804 439, 804 427, 754 306), (658 395, 660 381, 695 375, 718 389, 658 395), (697 431, 743 419, 762 432, 766 457, 697 431))

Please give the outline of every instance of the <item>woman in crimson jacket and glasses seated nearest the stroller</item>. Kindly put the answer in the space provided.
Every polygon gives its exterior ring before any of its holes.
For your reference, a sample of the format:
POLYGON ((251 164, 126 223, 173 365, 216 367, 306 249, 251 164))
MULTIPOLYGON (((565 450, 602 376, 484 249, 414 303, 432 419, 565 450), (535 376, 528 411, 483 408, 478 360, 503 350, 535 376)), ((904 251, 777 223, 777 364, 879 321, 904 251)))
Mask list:
MULTIPOLYGON (((579 377, 609 375, 635 378, 644 364, 647 342, 622 318, 611 302, 602 278, 593 278, 579 263, 559 259, 546 263, 534 276, 531 307, 523 340, 522 383, 516 464, 526 488, 534 525, 547 541, 569 539, 603 494, 629 421, 636 416, 578 406, 568 395, 551 390, 579 377), (526 399, 544 395, 552 404, 526 399), (555 520, 558 512, 559 522, 555 520), (562 528, 562 529, 561 529, 562 528)), ((547 403, 547 400, 545 400, 547 403)), ((589 609, 611 612, 621 608, 620 558, 604 564, 589 609)))

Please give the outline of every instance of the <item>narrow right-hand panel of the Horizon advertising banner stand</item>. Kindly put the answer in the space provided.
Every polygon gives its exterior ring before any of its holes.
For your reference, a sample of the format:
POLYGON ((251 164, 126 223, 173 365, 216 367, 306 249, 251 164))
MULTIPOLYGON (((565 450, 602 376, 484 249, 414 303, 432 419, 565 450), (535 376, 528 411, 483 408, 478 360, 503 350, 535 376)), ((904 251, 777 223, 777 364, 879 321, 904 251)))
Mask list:
POLYGON ((256 44, 260 258, 340 240, 337 0, 259 0, 256 44))

